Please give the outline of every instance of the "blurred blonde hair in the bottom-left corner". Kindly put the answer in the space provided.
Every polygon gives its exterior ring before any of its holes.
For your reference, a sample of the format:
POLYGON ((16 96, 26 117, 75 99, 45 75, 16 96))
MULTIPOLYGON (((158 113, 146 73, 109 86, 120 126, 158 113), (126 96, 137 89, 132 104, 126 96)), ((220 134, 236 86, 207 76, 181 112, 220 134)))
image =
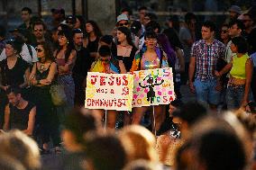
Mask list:
POLYGON ((19 160, 28 170, 41 167, 39 148, 34 140, 20 130, 12 130, 0 136, 0 153, 19 160))

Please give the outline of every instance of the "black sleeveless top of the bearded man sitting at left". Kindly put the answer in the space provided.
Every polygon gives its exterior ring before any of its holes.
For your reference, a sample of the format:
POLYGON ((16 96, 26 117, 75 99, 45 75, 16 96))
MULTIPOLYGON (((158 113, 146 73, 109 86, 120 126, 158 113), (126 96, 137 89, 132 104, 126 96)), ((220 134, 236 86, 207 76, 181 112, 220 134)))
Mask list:
POLYGON ((28 127, 29 114, 34 106, 35 104, 28 102, 24 109, 18 109, 16 106, 10 104, 10 129, 26 130, 28 127))

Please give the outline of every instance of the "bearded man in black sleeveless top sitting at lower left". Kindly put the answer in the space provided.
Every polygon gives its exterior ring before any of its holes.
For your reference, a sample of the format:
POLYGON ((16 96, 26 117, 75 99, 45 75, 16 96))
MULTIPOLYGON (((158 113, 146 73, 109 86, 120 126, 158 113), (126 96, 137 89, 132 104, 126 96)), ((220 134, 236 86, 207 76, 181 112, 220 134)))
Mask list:
POLYGON ((5 107, 4 130, 23 130, 26 135, 32 135, 36 106, 23 99, 19 87, 9 87, 6 94, 9 103, 5 107))

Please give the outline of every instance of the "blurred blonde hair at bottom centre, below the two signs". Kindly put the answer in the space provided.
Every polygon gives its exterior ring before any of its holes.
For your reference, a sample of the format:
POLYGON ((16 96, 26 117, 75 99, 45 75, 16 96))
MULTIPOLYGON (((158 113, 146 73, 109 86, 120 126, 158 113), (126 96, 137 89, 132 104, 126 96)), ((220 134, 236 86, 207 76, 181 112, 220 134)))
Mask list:
POLYGON ((119 138, 127 150, 129 162, 137 159, 158 160, 156 139, 150 130, 139 125, 127 126, 120 131, 119 138))

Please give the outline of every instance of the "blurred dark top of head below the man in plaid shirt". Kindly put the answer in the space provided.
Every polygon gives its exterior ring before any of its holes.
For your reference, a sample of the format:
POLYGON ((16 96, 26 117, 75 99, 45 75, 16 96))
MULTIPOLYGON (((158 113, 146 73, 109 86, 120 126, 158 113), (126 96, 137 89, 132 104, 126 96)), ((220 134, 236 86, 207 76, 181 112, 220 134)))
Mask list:
POLYGON ((172 113, 173 117, 178 117, 187 121, 189 125, 205 117, 208 113, 206 103, 190 101, 183 104, 180 108, 172 113))

